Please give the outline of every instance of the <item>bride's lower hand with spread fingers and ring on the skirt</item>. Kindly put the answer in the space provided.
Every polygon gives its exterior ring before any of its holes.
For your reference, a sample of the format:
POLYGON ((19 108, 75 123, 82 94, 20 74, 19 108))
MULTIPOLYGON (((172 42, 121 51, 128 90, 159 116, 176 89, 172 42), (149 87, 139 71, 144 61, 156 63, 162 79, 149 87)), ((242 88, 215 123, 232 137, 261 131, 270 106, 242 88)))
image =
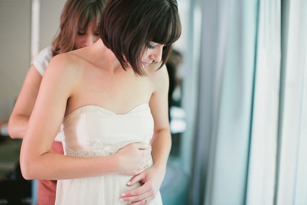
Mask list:
POLYGON ((134 201, 130 205, 149 204, 157 195, 165 172, 159 171, 154 167, 134 176, 127 183, 127 186, 132 186, 137 182, 143 184, 141 187, 122 193, 120 200, 134 201))

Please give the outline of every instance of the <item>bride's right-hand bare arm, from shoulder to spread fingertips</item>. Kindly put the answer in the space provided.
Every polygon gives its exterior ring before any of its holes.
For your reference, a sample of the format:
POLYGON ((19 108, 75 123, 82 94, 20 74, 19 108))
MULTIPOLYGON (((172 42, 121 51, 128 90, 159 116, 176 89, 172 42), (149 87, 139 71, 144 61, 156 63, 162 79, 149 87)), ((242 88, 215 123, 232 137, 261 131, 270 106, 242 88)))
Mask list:
POLYGON ((132 204, 150 202, 156 197, 161 183, 166 172, 166 164, 171 147, 171 137, 168 120, 168 75, 166 67, 163 66, 157 71, 153 79, 156 90, 151 95, 149 106, 155 128, 153 137, 151 139, 151 155, 153 159, 153 166, 134 176, 130 180, 128 186, 134 185, 136 182, 142 182, 143 185, 137 189, 124 192, 120 199, 124 201, 135 201, 132 204))

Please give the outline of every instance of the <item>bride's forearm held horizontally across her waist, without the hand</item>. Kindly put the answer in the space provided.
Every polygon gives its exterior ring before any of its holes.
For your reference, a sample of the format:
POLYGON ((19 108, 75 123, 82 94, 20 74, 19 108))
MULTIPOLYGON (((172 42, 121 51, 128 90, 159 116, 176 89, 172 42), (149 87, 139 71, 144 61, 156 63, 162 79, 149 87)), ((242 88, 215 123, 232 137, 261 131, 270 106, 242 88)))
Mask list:
POLYGON ((45 153, 36 159, 27 159, 20 153, 20 168, 26 179, 73 179, 94 177, 118 172, 117 156, 72 157, 45 153))

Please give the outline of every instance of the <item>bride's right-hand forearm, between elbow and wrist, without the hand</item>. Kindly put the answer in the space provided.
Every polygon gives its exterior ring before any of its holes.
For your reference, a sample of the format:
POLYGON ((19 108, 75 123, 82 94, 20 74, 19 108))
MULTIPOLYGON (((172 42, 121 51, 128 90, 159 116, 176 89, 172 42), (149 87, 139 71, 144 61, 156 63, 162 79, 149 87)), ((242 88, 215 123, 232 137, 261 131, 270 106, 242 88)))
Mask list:
POLYGON ((158 131, 151 141, 153 167, 165 172, 171 148, 171 136, 168 129, 158 131))

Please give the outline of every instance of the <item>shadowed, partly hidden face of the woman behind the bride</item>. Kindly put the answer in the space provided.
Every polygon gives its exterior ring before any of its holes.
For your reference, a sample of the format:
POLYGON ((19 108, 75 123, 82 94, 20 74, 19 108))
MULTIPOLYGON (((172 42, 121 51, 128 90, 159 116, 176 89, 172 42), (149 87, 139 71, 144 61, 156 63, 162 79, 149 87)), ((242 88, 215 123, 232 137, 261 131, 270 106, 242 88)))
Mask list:
POLYGON ((92 20, 86 29, 79 28, 75 40, 75 48, 83 48, 94 44, 99 39, 96 20, 92 20))

